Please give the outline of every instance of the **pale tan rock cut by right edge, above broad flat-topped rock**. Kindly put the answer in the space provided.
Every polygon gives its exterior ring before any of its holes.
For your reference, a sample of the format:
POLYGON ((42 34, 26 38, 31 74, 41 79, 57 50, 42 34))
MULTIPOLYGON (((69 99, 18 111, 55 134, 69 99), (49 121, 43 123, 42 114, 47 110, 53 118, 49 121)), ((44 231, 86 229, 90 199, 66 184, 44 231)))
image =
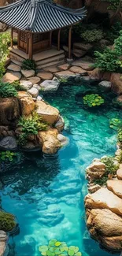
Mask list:
POLYGON ((107 187, 115 195, 122 198, 122 180, 108 180, 107 187))

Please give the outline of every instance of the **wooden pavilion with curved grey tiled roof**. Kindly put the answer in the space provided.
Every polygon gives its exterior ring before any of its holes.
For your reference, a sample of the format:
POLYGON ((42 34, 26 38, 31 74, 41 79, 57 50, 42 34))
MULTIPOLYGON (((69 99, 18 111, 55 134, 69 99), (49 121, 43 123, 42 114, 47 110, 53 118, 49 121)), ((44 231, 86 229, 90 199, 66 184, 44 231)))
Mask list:
POLYGON ((32 58, 33 54, 51 48, 52 32, 58 30, 57 50, 60 50, 61 28, 69 27, 68 58, 71 58, 72 25, 86 17, 85 7, 68 9, 46 0, 20 0, 0 7, 0 21, 17 32, 17 47, 32 58))

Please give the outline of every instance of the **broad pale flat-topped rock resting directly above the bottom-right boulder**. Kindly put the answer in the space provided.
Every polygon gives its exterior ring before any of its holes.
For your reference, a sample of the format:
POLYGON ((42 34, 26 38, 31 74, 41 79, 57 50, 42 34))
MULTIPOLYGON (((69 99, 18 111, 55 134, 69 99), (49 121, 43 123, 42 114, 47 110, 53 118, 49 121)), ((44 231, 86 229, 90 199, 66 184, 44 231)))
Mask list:
POLYGON ((107 188, 88 194, 85 198, 85 206, 90 209, 109 209, 113 213, 122 215, 122 199, 107 188))

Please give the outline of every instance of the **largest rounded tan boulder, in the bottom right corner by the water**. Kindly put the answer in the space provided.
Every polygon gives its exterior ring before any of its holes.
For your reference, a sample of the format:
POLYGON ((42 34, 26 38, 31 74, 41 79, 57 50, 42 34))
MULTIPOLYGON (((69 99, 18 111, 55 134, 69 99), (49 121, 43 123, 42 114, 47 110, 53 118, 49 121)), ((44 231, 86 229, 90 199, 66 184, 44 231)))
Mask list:
POLYGON ((122 250, 122 218, 106 209, 91 210, 87 228, 92 238, 109 250, 122 250))

